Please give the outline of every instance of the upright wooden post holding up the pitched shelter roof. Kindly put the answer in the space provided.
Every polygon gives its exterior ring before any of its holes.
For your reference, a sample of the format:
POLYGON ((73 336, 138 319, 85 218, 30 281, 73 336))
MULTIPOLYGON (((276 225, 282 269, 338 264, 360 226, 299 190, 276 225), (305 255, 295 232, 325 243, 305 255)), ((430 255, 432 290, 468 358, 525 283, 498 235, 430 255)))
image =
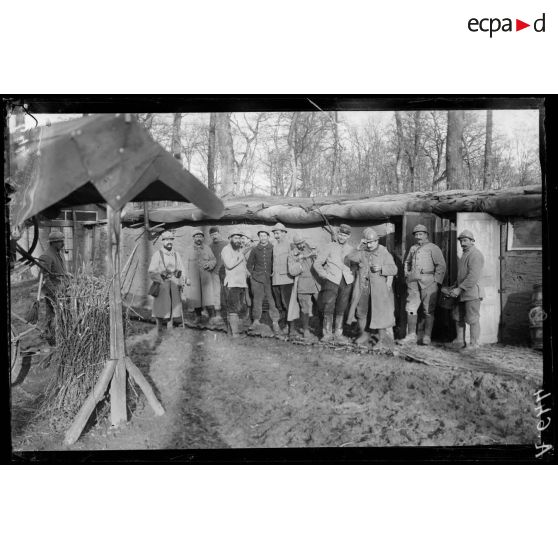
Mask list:
POLYGON ((107 206, 108 271, 112 278, 110 289, 110 358, 117 361, 110 386, 110 419, 113 426, 125 422, 126 413, 126 348, 122 324, 122 293, 120 284, 120 211, 107 206))

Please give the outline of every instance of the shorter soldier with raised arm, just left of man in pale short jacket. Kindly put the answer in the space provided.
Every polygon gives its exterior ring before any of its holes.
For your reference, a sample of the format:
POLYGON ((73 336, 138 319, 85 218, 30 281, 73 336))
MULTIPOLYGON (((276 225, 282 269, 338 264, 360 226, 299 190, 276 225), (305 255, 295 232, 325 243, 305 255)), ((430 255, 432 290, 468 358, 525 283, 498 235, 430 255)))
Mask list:
POLYGON ((306 239, 300 234, 295 234, 293 247, 287 259, 289 275, 294 277, 294 286, 289 304, 289 314, 287 320, 291 324, 289 332, 294 334, 292 321, 296 319, 296 308, 294 305, 298 301, 300 319, 302 322, 302 335, 304 339, 312 338, 309 330, 310 316, 312 316, 312 299, 316 298, 319 292, 319 284, 314 271, 314 260, 317 252, 314 246, 310 246, 306 239))

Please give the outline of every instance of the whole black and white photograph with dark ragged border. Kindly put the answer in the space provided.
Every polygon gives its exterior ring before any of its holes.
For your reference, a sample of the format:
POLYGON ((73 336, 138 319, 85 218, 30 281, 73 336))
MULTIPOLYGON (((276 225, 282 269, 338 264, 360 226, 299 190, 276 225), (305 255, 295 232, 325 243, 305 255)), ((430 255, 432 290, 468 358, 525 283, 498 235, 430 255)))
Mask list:
POLYGON ((6 105, 15 455, 544 455, 543 97, 174 101, 6 105))

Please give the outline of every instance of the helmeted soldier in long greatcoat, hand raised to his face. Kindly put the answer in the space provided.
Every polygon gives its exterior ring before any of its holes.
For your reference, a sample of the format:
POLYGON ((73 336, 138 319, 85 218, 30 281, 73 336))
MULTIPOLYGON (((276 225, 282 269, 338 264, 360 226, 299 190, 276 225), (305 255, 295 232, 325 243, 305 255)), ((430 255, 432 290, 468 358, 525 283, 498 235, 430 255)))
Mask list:
POLYGON ((358 321, 361 345, 370 340, 367 327, 378 330, 378 344, 391 346, 395 325, 395 305, 391 285, 397 275, 397 266, 387 248, 379 243, 376 231, 364 229, 360 246, 351 252, 348 260, 358 264, 353 288, 348 323, 358 321))

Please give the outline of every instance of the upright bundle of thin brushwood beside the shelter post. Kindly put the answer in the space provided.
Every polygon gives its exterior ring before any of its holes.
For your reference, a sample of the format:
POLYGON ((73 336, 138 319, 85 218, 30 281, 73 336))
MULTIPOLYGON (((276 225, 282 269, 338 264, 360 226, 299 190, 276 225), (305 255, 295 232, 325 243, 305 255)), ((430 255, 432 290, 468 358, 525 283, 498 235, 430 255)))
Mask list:
POLYGON ((55 373, 41 415, 65 428, 95 386, 110 353, 110 281, 84 266, 65 280, 55 304, 55 373))

